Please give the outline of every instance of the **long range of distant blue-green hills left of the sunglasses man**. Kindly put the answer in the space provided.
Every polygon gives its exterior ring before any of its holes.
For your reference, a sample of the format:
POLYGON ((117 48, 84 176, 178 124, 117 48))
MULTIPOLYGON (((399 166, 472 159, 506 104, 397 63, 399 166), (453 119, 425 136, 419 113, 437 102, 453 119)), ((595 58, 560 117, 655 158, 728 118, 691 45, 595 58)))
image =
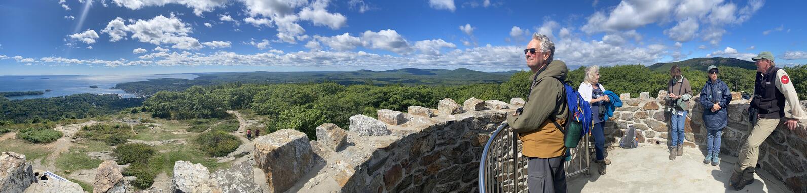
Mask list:
POLYGON ((519 71, 485 73, 470 69, 393 69, 353 72, 249 72, 249 73, 200 73, 193 80, 180 78, 157 78, 140 82, 121 82, 115 89, 139 95, 151 95, 160 90, 178 91, 194 85, 209 86, 226 82, 241 83, 295 83, 337 82, 351 84, 404 84, 404 85, 466 85, 474 83, 501 83, 508 81, 519 71))

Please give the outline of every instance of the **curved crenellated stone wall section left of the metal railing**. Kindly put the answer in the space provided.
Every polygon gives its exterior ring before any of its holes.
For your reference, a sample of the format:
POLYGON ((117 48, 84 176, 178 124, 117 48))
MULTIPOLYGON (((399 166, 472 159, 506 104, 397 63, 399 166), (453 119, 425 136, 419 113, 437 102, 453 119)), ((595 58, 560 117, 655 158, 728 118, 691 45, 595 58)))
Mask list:
POLYGON ((309 143, 300 143, 308 139, 294 130, 273 132, 256 140, 256 160, 284 161, 259 164, 267 183, 278 185, 275 192, 474 192, 483 146, 515 106, 464 104, 445 99, 437 110, 382 110, 378 120, 356 115, 348 131, 323 124, 316 129, 320 141, 309 143))

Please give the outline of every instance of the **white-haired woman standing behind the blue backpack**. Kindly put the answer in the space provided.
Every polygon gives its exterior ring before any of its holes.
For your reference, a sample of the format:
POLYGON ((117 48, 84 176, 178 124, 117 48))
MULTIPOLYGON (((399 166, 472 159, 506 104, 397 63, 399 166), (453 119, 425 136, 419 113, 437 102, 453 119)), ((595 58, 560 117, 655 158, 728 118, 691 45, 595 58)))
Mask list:
POLYGON ((586 78, 580 82, 577 89, 580 96, 592 106, 592 127, 591 133, 594 136, 594 147, 596 150, 596 163, 600 174, 605 174, 605 165, 611 161, 605 158, 605 110, 610 99, 605 95, 605 88, 600 84, 600 66, 592 65, 586 69, 586 78))

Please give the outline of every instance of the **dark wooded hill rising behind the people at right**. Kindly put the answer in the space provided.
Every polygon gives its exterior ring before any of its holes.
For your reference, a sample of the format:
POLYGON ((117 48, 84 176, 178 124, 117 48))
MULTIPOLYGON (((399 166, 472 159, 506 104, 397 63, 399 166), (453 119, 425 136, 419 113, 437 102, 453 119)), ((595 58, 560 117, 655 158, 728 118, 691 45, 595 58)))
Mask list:
POLYGON ((656 63, 655 65, 650 65, 649 68, 656 72, 667 73, 670 72, 670 68, 672 68, 673 65, 678 65, 681 68, 690 67, 696 70, 706 70, 706 68, 709 68, 709 65, 731 66, 741 69, 756 70, 756 65, 754 64, 753 61, 743 61, 732 57, 699 57, 699 58, 692 58, 686 61, 656 63))

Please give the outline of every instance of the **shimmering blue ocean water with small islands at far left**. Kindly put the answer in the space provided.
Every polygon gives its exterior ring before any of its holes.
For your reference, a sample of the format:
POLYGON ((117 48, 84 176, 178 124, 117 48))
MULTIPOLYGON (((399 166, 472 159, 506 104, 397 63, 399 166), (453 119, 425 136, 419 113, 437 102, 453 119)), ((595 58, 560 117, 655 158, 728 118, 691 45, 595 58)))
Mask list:
POLYGON ((0 92, 51 90, 42 95, 24 95, 7 99, 51 98, 70 94, 119 94, 123 98, 137 97, 123 90, 111 89, 119 82, 145 81, 152 78, 185 78, 193 79, 194 74, 160 74, 160 75, 72 75, 72 76, 0 76, 0 92), (98 88, 90 88, 98 86, 98 88))

